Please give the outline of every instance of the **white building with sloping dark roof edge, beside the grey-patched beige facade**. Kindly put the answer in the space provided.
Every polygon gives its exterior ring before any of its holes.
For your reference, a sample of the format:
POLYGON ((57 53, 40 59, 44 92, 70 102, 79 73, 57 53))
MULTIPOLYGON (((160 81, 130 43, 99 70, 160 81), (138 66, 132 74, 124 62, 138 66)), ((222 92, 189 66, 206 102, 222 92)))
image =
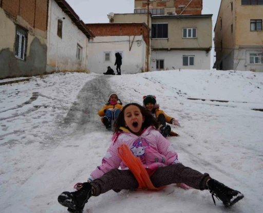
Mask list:
POLYGON ((91 36, 94 37, 65 0, 49 0, 47 72, 87 72, 91 36))

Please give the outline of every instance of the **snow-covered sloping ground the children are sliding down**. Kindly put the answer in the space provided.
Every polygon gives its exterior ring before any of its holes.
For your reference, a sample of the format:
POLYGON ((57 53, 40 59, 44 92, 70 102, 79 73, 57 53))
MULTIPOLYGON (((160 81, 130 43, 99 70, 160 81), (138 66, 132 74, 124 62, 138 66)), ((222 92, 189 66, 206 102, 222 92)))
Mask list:
POLYGON ((110 144, 97 112, 110 90, 123 104, 156 95, 181 127, 168 137, 179 160, 240 190, 229 209, 209 191, 109 191, 84 212, 261 212, 263 73, 161 71, 122 76, 66 73, 0 86, 0 206, 5 213, 67 212, 57 197, 86 181, 110 144), (205 99, 190 100, 187 98, 205 99), (218 102, 211 100, 224 100, 218 102))

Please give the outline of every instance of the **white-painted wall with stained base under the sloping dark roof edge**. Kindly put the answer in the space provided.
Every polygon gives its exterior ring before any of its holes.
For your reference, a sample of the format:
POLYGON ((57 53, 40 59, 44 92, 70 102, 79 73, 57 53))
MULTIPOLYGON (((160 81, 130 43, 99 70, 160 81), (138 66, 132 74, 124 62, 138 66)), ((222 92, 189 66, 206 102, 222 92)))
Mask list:
POLYGON ((49 0, 47 29, 47 72, 87 71, 88 38, 62 11, 54 0, 49 0), (62 38, 57 35, 58 17, 63 21, 62 38), (77 59, 77 44, 82 47, 81 60, 77 59))

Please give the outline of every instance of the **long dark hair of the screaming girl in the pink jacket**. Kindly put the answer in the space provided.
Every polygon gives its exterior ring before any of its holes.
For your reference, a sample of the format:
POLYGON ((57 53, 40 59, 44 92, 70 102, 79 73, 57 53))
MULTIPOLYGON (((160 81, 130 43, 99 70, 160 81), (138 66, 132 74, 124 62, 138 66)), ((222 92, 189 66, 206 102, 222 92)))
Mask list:
POLYGON ((116 119, 116 121, 114 122, 114 133, 118 132, 118 130, 120 129, 120 127, 125 127, 127 129, 129 129, 128 127, 125 126, 125 120, 124 120, 124 111, 127 107, 129 107, 130 105, 135 105, 136 107, 138 107, 141 111, 142 116, 144 117, 144 122, 142 123, 142 129, 147 128, 151 125, 154 125, 156 127, 156 129, 158 129, 159 127, 159 123, 158 121, 154 118, 154 116, 151 114, 151 112, 149 112, 148 110, 146 110, 144 107, 142 107, 142 105, 138 104, 138 103, 128 103, 124 106, 124 108, 122 109, 122 111, 120 112, 118 118, 116 119))

